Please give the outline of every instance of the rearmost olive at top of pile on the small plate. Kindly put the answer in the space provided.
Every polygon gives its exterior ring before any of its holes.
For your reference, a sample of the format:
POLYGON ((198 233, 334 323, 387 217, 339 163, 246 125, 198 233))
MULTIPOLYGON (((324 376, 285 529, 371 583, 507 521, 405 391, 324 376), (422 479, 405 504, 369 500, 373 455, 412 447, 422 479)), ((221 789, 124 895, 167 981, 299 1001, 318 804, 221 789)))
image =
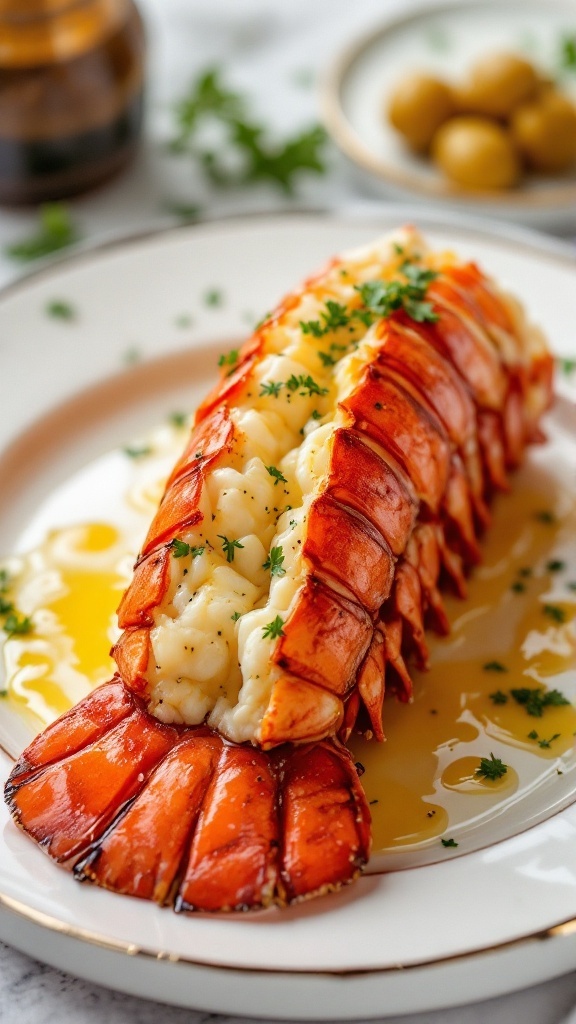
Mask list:
POLYGON ((539 83, 538 72, 524 57, 493 53, 472 66, 456 98, 464 114, 508 118, 519 103, 536 94, 539 83))

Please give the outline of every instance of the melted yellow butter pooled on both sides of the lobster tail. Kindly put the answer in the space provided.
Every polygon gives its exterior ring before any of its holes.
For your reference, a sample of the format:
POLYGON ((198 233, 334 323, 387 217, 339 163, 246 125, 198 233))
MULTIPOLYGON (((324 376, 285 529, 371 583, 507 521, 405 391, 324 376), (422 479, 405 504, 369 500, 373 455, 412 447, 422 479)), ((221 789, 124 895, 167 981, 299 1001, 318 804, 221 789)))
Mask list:
MULTIPOLYGON (((35 530, 25 534, 8 596, 35 628, 4 644, 5 685, 8 698, 34 712, 39 725, 112 674, 115 610, 181 440, 178 432, 164 436, 162 465, 154 457, 137 463, 120 453, 104 457, 93 472, 72 478, 35 530)), ((573 753, 574 707, 545 707, 541 717, 530 716, 510 690, 567 688, 576 697, 575 529, 573 501, 558 487, 551 493, 534 479, 530 485, 526 474, 511 496, 497 500, 483 564, 465 602, 447 599, 452 632, 429 640, 429 671, 413 672, 413 701, 387 696, 386 741, 355 737, 351 744, 366 769, 362 783, 376 852, 440 848, 447 829, 457 828, 459 837, 479 814, 505 806, 521 784, 510 763, 515 751, 552 770, 550 761, 573 753), (552 522, 540 514, 549 508, 552 522), (497 691, 505 702, 496 702, 497 691), (481 758, 495 749, 506 774, 479 779, 481 758)))

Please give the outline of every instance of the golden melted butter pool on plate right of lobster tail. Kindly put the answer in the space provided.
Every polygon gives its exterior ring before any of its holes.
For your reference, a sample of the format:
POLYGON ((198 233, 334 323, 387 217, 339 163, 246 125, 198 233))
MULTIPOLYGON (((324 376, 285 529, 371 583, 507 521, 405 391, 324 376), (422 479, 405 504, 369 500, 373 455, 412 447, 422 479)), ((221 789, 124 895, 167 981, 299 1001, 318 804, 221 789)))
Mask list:
POLYGON ((544 498, 524 480, 496 501, 483 564, 465 602, 447 598, 451 634, 430 639, 429 670, 412 672, 412 702, 386 695, 385 742, 351 742, 366 769, 375 852, 438 843, 447 828, 460 829, 508 800, 519 788, 513 749, 536 761, 573 754, 573 705, 544 707, 534 717, 510 690, 567 689, 574 696, 576 596, 568 585, 576 580, 575 530, 572 502, 544 498), (546 521, 542 511, 556 505, 546 521), (545 606, 559 610, 550 615, 545 606), (476 769, 495 746, 506 774, 482 780, 476 769))

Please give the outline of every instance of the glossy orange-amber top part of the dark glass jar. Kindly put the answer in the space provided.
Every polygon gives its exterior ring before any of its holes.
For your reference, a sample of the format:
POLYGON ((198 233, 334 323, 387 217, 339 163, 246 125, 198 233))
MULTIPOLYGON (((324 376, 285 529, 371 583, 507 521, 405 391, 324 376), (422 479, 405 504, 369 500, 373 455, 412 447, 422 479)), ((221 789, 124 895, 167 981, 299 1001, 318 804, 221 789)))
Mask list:
POLYGON ((72 60, 97 46, 131 0, 0 0, 0 68, 72 60))

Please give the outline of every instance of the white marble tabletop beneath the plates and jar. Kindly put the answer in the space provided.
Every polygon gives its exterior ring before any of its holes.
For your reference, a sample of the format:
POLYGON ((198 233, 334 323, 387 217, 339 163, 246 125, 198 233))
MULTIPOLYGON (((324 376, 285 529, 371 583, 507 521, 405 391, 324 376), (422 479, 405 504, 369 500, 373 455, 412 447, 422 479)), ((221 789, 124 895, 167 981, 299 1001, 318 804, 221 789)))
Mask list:
MULTIPOLYGON (((220 195, 207 189, 190 164, 170 157, 171 106, 209 65, 225 70, 265 123, 284 134, 318 119, 314 76, 358 33, 401 0, 140 0, 150 40, 150 88, 145 144, 117 182, 71 204, 84 239, 173 223, 166 203, 198 203, 207 216, 290 208, 369 208, 373 202, 335 152, 325 177, 302 180, 287 200, 271 187, 220 195)), ((31 211, 0 211, 0 250, 30 233, 31 211)), ((0 285, 20 272, 0 256, 0 285)), ((533 989, 475 1006, 404 1017, 404 1024, 559 1024, 576 1005, 576 973, 533 989)), ((361 1012, 361 1008, 359 1008, 361 1012)), ((0 1020, 18 1024, 200 1024, 214 1017, 121 995, 0 946, 0 1020)), ((400 1018, 388 1018, 388 1024, 400 1018)))

